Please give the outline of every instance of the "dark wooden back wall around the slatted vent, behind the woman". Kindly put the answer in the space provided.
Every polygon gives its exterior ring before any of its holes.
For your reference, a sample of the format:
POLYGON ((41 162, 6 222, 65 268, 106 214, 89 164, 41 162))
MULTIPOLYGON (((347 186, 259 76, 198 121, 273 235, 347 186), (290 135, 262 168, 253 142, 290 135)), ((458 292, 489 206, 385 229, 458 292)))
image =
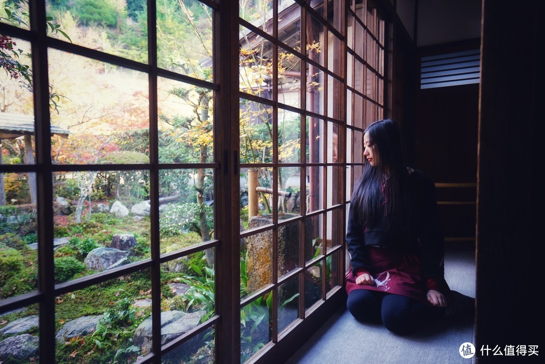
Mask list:
MULTIPOLYGON (((420 57, 475 49, 480 40, 419 49, 420 57)), ((417 71, 417 74, 419 71, 417 71)), ((479 84, 415 90, 414 168, 437 184, 447 248, 475 244, 479 84)))

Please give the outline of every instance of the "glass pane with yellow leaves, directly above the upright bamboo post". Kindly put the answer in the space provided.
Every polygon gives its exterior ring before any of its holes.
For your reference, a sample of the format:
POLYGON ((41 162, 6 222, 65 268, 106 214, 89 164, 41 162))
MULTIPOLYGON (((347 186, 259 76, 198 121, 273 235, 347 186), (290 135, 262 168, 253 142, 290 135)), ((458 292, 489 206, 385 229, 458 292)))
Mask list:
POLYGON ((240 99, 240 163, 272 162, 272 107, 240 99))

